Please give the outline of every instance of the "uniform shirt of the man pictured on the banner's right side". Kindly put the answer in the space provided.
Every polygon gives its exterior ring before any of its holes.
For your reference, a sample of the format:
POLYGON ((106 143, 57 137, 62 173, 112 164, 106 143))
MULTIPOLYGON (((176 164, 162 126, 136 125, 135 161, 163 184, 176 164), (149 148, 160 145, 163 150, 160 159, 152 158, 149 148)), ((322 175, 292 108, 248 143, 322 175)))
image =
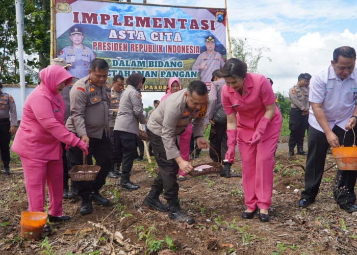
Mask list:
POLYGON ((198 56, 192 66, 192 70, 201 73, 202 82, 211 82, 212 72, 214 70, 221 69, 223 66, 224 60, 222 55, 220 55, 218 52, 204 52, 198 56), (199 69, 198 67, 202 62, 205 62, 205 66, 202 69, 199 69))

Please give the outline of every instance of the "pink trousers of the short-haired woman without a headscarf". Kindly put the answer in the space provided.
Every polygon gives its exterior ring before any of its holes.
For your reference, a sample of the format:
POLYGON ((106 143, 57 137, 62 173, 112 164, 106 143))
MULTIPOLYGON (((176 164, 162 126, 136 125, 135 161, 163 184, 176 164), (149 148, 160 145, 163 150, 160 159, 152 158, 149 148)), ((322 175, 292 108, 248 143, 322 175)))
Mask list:
POLYGON ((248 145, 237 139, 239 155, 242 161, 242 183, 244 203, 247 209, 267 209, 271 205, 273 191, 274 151, 279 133, 269 135, 257 145, 248 145))

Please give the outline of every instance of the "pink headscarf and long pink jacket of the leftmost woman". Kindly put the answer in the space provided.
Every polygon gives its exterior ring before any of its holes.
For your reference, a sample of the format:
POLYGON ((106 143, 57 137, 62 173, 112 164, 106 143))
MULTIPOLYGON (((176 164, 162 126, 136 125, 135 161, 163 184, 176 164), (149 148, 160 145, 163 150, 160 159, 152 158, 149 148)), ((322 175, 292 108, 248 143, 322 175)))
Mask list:
POLYGON ((67 86, 72 77, 58 65, 41 70, 39 76, 42 82, 25 101, 12 150, 30 159, 58 160, 60 142, 75 145, 80 140, 63 125, 65 106, 56 93, 56 86, 65 80, 67 86))

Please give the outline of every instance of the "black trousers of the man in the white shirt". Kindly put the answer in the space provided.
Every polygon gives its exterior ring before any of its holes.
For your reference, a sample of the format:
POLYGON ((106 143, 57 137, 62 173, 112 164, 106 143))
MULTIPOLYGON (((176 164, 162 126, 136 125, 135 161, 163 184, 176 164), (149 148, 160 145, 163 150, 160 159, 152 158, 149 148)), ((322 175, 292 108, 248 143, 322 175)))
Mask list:
MULTIPOLYGON (((340 145, 343 143, 345 146, 352 146, 353 133, 351 130, 346 133, 344 142, 343 136, 345 131, 341 129, 341 127, 335 125, 332 131, 339 138, 340 145)), ((357 132, 356 127, 354 127, 354 132, 357 132)), ((315 200, 321 184, 328 147, 329 144, 325 133, 310 126, 309 150, 305 168, 305 190, 301 192, 302 199, 315 200)), ((356 177, 357 171, 337 170, 334 198, 339 205, 343 205, 346 202, 355 202, 354 185, 356 183, 356 177)))

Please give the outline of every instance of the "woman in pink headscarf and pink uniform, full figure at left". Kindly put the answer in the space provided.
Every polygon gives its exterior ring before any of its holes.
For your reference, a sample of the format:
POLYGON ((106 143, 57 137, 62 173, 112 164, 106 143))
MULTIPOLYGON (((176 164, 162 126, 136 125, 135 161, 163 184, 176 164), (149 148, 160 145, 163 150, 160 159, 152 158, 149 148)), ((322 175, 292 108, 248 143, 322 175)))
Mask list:
POLYGON ((63 164, 61 142, 78 146, 88 154, 88 146, 63 125, 64 103, 61 90, 72 76, 61 66, 51 65, 40 71, 41 84, 25 101, 20 127, 12 150, 21 159, 29 211, 43 212, 47 181, 49 221, 63 221, 63 164))

